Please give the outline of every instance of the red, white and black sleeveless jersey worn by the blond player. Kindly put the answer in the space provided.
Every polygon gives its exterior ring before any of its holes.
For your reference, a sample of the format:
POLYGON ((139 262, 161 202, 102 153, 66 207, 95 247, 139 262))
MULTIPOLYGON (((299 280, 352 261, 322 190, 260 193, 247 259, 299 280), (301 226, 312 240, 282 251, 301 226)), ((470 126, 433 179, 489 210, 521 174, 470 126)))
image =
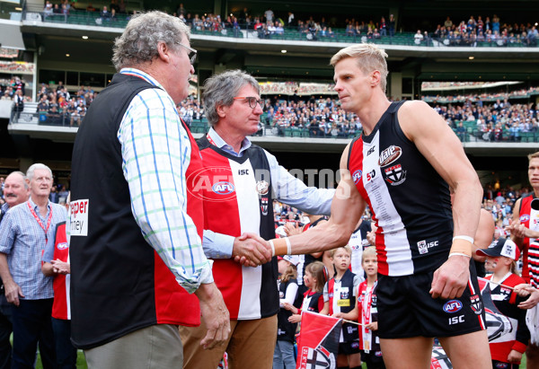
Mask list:
POLYGON ((402 132, 393 102, 349 149, 352 179, 376 220, 378 273, 408 276, 438 268, 453 238, 449 188, 402 132))

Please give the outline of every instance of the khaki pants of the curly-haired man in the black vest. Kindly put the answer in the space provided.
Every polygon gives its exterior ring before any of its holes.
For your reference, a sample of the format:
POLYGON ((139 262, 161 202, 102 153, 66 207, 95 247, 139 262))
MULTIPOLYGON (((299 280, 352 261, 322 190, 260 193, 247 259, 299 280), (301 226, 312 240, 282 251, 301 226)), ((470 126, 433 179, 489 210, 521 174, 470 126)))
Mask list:
POLYGON ((181 368, 183 351, 178 326, 158 324, 84 350, 84 355, 90 369, 164 369, 181 368))

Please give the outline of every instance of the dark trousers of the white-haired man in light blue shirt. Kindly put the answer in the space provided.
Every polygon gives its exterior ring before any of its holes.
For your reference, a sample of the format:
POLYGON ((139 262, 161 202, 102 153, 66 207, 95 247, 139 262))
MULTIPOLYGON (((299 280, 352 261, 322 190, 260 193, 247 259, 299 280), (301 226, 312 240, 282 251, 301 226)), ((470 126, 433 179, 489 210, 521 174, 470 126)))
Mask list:
POLYGON ((19 306, 12 306, 13 369, 33 369, 38 342, 43 369, 56 368, 52 300, 19 300, 19 306))

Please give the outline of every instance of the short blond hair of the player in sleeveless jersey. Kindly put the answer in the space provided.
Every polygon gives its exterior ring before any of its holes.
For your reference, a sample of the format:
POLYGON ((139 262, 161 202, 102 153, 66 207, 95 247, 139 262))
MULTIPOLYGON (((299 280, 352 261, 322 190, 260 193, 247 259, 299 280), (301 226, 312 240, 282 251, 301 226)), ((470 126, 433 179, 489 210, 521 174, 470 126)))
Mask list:
POLYGON ((348 48, 340 49, 337 54, 331 57, 331 66, 336 66, 342 59, 355 57, 358 61, 359 68, 363 73, 368 74, 374 71, 380 72, 380 88, 385 92, 387 86, 387 62, 385 58, 387 54, 383 48, 378 48, 375 44, 360 43, 349 46, 348 48))

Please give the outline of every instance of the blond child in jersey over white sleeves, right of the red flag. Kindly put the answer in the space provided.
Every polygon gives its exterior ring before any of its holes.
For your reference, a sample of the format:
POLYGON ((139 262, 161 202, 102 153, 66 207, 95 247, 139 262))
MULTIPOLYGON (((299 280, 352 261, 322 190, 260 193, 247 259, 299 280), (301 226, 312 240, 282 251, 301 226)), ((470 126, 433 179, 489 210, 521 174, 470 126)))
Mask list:
MULTIPOLYGON (((349 246, 331 250, 331 260, 336 273, 323 287, 324 307, 321 313, 339 317, 340 313, 351 312, 356 308, 361 278, 350 271, 351 259, 352 249, 349 246)), ((342 323, 337 366, 350 369, 361 367, 357 324, 342 323)))

